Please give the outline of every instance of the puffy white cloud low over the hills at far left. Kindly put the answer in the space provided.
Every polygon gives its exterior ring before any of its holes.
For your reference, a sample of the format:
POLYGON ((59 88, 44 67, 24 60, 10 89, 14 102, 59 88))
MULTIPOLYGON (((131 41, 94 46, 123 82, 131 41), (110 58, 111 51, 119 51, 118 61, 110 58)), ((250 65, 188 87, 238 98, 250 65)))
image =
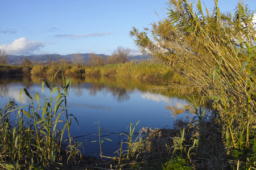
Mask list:
POLYGON ((6 51, 7 54, 33 54, 34 52, 39 53, 40 48, 44 47, 45 44, 42 41, 31 41, 26 37, 14 40, 11 44, 2 44, 0 49, 6 51))

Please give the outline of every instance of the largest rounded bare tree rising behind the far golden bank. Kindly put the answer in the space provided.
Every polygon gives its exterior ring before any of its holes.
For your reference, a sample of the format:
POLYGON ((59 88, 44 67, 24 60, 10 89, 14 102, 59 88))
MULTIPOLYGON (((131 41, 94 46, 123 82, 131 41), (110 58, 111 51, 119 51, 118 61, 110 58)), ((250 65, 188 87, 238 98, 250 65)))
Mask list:
POLYGON ((124 48, 123 46, 118 46, 114 50, 111 56, 106 59, 106 63, 115 64, 115 63, 126 63, 130 60, 130 49, 124 48))

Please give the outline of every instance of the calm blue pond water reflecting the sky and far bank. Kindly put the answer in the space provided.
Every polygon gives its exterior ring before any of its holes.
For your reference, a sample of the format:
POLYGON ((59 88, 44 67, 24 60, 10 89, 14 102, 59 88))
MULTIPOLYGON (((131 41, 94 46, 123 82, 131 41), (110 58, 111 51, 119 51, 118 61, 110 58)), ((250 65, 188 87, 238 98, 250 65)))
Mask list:
MULTIPOLYGON (((30 103, 28 97, 22 96, 20 103, 20 90, 27 88, 33 97, 36 93, 40 95, 40 101, 43 103, 44 96, 49 98, 49 91, 42 92, 42 84, 36 82, 38 78, 30 79, 5 79, 1 78, 0 84, 0 105, 3 106, 8 99, 15 99, 20 105, 30 103), (33 83, 35 82, 35 83, 33 83)), ((185 97, 168 96, 159 93, 147 91, 147 82, 141 82, 138 79, 128 78, 82 78, 72 79, 71 91, 68 96, 68 112, 74 114, 79 121, 77 125, 75 119, 72 120, 72 137, 77 141, 85 141, 84 155, 98 156, 100 148, 97 141, 98 124, 110 141, 102 143, 102 151, 105 156, 113 156, 118 150, 121 140, 124 137, 118 137, 118 134, 128 132, 127 126, 130 122, 136 124, 139 122, 135 131, 142 127, 172 128, 175 118, 184 117, 187 113, 179 114, 175 117, 171 112, 164 108, 164 105, 188 104, 185 97)), ((45 88, 46 89, 46 88, 45 88)), ((67 134, 65 134, 67 137, 67 134)), ((125 148, 123 148, 124 150, 125 148)))

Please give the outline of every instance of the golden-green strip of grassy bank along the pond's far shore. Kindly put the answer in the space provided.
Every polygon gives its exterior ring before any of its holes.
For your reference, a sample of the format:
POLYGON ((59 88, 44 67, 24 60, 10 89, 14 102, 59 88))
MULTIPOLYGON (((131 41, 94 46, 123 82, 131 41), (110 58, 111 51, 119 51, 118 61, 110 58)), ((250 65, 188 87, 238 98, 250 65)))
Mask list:
MULTIPOLYGON (((65 75, 72 76, 125 76, 144 80, 150 80, 151 82, 163 83, 180 83, 184 84, 188 81, 176 74, 170 67, 163 63, 136 63, 128 62, 122 64, 105 65, 97 67, 88 67, 75 65, 62 66, 65 75)), ((55 74, 58 70, 58 65, 34 65, 34 66, 12 66, 2 65, 0 66, 1 76, 43 76, 55 74)))

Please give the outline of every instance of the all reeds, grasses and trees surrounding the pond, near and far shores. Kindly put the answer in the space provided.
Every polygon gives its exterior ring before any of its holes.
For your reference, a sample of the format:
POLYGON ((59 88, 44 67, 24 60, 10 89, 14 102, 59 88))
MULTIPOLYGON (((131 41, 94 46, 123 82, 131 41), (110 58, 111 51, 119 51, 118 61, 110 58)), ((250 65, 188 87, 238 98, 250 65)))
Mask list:
MULTIPOLYGON (((233 13, 222 13, 214 2, 207 9, 200 0, 193 5, 170 0, 166 18, 142 31, 132 28, 130 36, 148 56, 146 62, 130 61, 129 49, 120 46, 106 58, 91 54, 86 63, 77 54, 72 63, 59 59, 39 65, 25 58, 14 66, 1 50, 2 76, 53 75, 51 81, 41 80, 42 88, 51 90, 47 100, 39 101, 24 88, 20 96, 31 99, 27 109, 12 100, 1 109, 1 168, 256 169, 254 12, 240 2, 233 13), (196 89, 196 97, 188 96, 191 107, 166 107, 177 114, 189 109, 194 117, 176 120, 174 129, 142 128, 137 138, 134 129, 139 122, 130 124, 119 156, 106 158, 100 153, 101 159, 83 158, 81 143, 69 131, 71 123, 79 123, 67 108, 74 75, 149 79, 160 82, 150 87, 155 91, 196 89), (62 78, 59 85, 57 76, 62 78), (10 114, 16 114, 14 122, 10 114)), ((101 148, 100 122, 98 128, 101 148)))

